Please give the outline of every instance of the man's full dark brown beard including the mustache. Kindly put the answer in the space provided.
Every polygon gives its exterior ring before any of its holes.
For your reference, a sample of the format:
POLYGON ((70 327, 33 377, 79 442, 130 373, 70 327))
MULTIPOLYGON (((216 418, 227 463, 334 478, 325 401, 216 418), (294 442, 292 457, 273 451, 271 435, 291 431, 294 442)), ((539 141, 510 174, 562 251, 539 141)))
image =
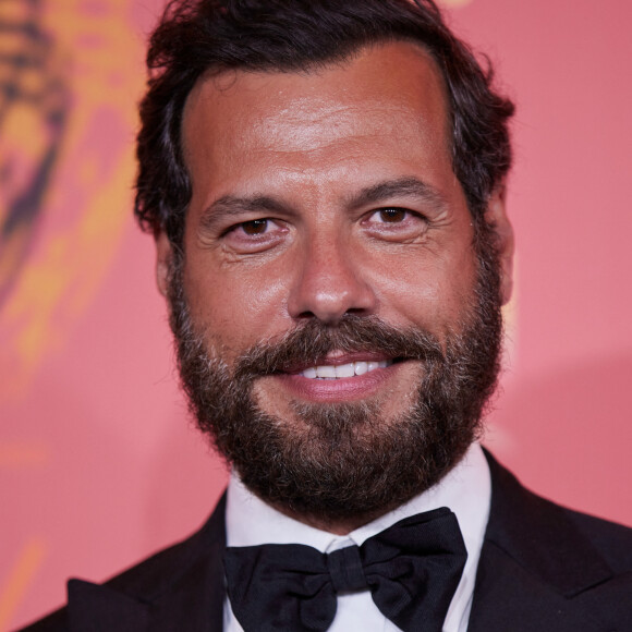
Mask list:
POLYGON ((183 293, 182 257, 170 276, 171 328, 183 389, 198 427, 264 501, 319 521, 367 521, 440 481, 481 430, 499 367, 501 316, 494 233, 478 235, 478 275, 460 333, 445 351, 428 332, 400 330, 375 316, 316 318, 236 358, 211 358, 194 330, 183 293), (411 409, 385 420, 378 400, 292 402, 293 420, 265 413, 253 382, 329 351, 382 352, 417 360, 423 377, 411 409))

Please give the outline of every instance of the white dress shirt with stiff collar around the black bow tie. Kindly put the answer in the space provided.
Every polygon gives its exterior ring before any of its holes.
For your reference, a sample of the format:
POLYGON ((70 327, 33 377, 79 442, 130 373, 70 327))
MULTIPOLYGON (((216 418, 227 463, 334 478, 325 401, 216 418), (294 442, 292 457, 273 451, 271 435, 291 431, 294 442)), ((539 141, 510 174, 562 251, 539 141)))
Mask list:
MULTIPOLYGON (((465 632, 472 609, 476 568, 489 518, 490 499, 489 467, 478 443, 473 443, 461 462, 437 485, 343 536, 314 528, 280 513, 251 494, 240 479, 232 475, 227 498, 227 545, 304 544, 320 552, 331 552, 353 544, 360 546, 365 539, 409 515, 448 507, 459 521, 467 549, 467 561, 448 609, 443 632, 465 632)), ((243 632, 231 610, 228 597, 223 609, 223 629, 224 632, 243 632)), ((339 596, 336 617, 329 628, 329 632, 397 630, 399 628, 378 610, 368 590, 339 596)))

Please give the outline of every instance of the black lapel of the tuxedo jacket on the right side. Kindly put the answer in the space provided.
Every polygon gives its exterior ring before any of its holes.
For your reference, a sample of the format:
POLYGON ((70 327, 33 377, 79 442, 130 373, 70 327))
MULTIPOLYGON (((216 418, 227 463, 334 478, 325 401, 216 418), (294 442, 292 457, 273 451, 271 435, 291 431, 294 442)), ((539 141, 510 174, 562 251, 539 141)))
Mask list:
POLYGON ((582 597, 612 576, 609 567, 564 509, 486 455, 491 509, 469 632, 603 629, 582 597))

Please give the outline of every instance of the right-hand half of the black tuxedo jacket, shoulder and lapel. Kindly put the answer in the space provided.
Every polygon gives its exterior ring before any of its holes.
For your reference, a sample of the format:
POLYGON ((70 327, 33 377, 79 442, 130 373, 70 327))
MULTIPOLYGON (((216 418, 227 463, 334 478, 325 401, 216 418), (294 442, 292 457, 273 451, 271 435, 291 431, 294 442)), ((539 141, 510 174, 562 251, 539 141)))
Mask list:
POLYGON ((530 491, 486 455, 491 508, 472 630, 632 630, 632 530, 530 491))

